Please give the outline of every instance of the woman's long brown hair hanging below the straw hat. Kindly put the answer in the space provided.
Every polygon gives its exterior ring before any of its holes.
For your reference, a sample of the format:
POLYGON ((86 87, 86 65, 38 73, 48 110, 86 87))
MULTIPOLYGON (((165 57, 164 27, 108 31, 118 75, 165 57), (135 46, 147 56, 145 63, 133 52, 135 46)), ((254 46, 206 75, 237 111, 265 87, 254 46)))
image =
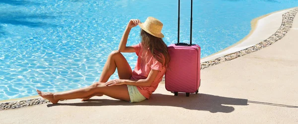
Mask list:
POLYGON ((143 53, 146 53, 146 50, 149 50, 153 57, 162 64, 162 67, 167 68, 170 61, 170 55, 164 41, 161 38, 150 35, 143 29, 141 29, 140 35, 144 50, 143 53))

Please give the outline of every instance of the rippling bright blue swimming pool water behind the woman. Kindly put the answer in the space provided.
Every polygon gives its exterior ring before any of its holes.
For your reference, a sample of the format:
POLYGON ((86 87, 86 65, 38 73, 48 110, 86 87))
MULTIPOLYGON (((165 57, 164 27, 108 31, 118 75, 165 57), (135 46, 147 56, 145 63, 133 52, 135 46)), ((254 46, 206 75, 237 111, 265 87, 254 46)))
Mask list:
MULTIPOLYGON (((177 40, 178 0, 0 0, 0 100, 63 91, 99 79, 128 21, 153 16, 164 41, 177 40)), ((243 39, 256 17, 298 0, 194 0, 193 42, 202 57, 243 39)), ((190 0, 181 0, 181 41, 189 41, 190 0)), ((140 42, 140 28, 128 45, 140 42)), ((132 68, 137 56, 124 54, 132 68)), ((111 79, 116 79, 117 74, 111 79)))

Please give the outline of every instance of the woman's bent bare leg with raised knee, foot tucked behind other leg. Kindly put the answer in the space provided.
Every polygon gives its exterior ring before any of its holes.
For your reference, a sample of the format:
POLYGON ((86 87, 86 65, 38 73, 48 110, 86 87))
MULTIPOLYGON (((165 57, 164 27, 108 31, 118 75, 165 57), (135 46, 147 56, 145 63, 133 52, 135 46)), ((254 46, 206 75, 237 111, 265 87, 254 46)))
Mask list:
MULTIPOLYGON (((111 75, 113 75, 116 71, 118 71, 119 79, 130 79, 132 76, 132 69, 128 64, 125 57, 119 51, 112 51, 105 63, 102 74, 98 82, 105 83, 109 80, 111 75)), ((93 96, 102 96, 102 94, 92 94, 86 98, 83 98, 81 101, 86 101, 93 96)))

